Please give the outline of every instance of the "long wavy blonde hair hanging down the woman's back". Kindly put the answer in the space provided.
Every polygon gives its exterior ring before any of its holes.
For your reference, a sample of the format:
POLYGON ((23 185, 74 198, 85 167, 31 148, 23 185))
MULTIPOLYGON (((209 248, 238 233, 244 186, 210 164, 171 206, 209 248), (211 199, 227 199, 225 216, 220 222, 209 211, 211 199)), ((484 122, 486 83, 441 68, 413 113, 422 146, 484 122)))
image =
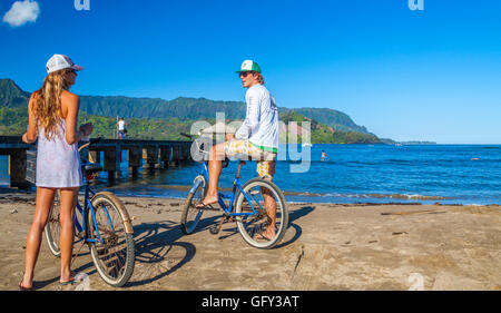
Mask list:
POLYGON ((31 111, 35 115, 38 128, 43 128, 47 139, 58 134, 58 125, 61 116, 61 92, 69 90, 68 74, 72 69, 61 69, 47 75, 41 88, 35 91, 35 101, 31 111))

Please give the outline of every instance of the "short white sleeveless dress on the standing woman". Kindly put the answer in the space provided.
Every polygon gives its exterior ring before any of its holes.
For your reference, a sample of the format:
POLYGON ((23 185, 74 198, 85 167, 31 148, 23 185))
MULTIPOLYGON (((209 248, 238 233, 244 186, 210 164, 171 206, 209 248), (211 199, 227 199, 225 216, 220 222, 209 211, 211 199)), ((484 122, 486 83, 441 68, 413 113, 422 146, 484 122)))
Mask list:
POLYGON ((68 188, 82 186, 78 143, 66 141, 66 120, 60 119, 58 131, 47 139, 39 128, 37 144, 37 187, 68 188))

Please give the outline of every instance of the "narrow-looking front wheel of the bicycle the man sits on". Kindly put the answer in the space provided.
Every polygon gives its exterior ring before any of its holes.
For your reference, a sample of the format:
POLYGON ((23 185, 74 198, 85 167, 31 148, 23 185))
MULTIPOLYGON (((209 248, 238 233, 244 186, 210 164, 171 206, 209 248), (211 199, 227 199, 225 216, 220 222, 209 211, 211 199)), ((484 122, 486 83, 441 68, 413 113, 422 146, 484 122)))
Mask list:
POLYGON ((186 198, 185 207, 183 208, 180 225, 183 233, 186 235, 193 234, 198 222, 200 222, 204 209, 196 208, 195 206, 204 199, 206 189, 204 176, 197 176, 188 193, 188 197, 186 198))

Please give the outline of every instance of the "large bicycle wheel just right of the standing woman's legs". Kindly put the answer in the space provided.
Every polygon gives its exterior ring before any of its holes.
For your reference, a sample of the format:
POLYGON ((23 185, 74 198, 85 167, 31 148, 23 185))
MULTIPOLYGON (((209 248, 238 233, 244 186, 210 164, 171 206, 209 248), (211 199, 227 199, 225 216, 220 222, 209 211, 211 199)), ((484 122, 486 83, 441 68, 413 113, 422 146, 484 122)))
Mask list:
POLYGON ((111 286, 125 285, 134 272, 132 224, 124 204, 114 194, 102 192, 91 199, 95 218, 87 215, 90 255, 101 278, 111 286))

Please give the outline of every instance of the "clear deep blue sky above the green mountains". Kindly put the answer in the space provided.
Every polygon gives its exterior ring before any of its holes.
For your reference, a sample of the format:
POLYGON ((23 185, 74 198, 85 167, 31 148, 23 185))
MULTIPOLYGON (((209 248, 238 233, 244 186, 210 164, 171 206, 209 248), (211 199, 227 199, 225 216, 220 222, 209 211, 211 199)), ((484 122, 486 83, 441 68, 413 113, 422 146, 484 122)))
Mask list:
MULTIPOLYGON (((13 0, 0 0, 0 17, 13 0)), ((328 107, 380 137, 501 144, 501 1, 38 0, 0 22, 0 78, 32 91, 52 53, 86 67, 72 91, 244 100, 244 59, 283 107, 328 107)))

